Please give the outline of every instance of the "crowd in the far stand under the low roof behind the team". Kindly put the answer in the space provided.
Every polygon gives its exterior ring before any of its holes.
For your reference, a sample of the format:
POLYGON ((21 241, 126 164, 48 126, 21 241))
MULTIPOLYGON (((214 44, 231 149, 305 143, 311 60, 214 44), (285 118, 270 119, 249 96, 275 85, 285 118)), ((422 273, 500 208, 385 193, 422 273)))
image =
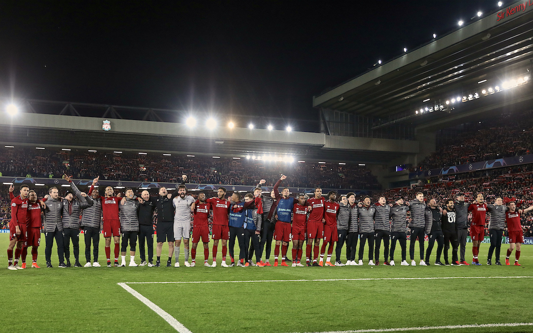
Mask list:
POLYGON ((290 175, 287 186, 300 188, 378 190, 381 186, 365 166, 286 163, 253 159, 214 159, 206 156, 162 156, 160 154, 62 151, 47 148, 3 148, 0 173, 16 177, 60 177, 142 182, 176 182, 182 174, 191 183, 255 185, 258 179, 274 183, 280 174, 290 175))

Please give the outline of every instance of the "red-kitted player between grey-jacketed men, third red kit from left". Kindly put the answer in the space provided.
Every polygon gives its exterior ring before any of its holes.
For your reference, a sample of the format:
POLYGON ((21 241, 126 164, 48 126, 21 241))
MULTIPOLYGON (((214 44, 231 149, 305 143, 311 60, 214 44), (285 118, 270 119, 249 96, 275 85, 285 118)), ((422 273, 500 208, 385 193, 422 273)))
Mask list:
MULTIPOLYGON (((89 195, 92 194, 94 186, 100 180, 100 176, 94 178, 89 195)), ((106 240, 107 266, 111 267, 111 236, 115 243, 115 266, 118 267, 118 256, 120 254, 120 220, 118 215, 118 205, 120 204, 120 193, 115 197, 112 186, 107 186, 102 200, 103 214, 103 237, 106 240)))

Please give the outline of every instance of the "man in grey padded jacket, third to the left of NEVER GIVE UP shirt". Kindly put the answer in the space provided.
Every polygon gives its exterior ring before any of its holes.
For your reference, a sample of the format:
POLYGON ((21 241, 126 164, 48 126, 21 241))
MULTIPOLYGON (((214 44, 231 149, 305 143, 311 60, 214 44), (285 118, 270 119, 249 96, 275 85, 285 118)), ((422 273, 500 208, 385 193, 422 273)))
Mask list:
POLYGON ((407 212, 409 206, 403 205, 403 198, 398 197, 395 205, 391 207, 390 217, 391 224, 391 266, 394 266, 394 249, 396 248, 396 241, 400 242, 401 247, 401 263, 402 266, 409 266, 407 262, 407 212))

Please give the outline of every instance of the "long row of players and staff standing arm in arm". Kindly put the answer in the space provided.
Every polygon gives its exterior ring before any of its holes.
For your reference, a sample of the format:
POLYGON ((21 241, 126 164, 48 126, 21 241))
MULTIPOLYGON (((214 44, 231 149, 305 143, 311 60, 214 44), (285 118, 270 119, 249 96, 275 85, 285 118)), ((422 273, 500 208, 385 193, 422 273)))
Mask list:
POLYGON ((200 192, 198 199, 187 194, 185 175, 182 176, 182 183, 175 197, 164 187, 159 188, 157 197, 151 197, 146 190, 141 192, 140 197, 136 197, 132 189, 126 189, 124 197, 121 197, 120 193, 115 196, 111 186, 107 186, 104 196, 100 196, 96 185, 99 177, 93 180, 88 193, 81 192, 69 176, 63 175, 63 178, 70 184, 70 189, 64 197, 60 197, 58 189, 52 187, 49 189, 49 194, 39 200, 36 192, 30 190, 27 185, 21 185, 20 193, 15 197, 14 187, 10 186, 12 217, 10 243, 7 248, 9 270, 26 268, 29 246, 33 260, 31 267, 40 268, 37 264, 37 250, 41 243, 41 229, 44 231, 46 241, 46 267, 52 267, 54 240, 59 267, 71 266, 70 242, 75 259, 74 266, 82 267, 79 262, 80 229, 83 230, 85 238, 84 267, 101 266, 98 262, 98 253, 102 231, 106 242, 108 267, 112 266, 111 240, 115 244, 114 266, 126 266, 129 243, 128 266, 159 267, 163 245, 168 242, 166 266, 172 266, 174 255, 174 266, 179 267, 182 240, 183 264, 187 267, 196 265, 196 250, 200 240, 204 248, 204 265, 208 267, 217 265, 219 242, 222 255, 220 265, 223 267, 272 266, 270 263, 272 241, 275 241, 273 266, 289 266, 288 262, 292 262, 290 265, 293 267, 363 265, 367 242, 368 265, 379 265, 383 242, 383 265, 395 266, 394 251, 396 243, 399 242, 400 265, 408 266, 408 234, 410 265, 416 266, 416 241, 419 247, 419 265, 430 265, 435 241, 437 241, 435 265, 470 265, 465 260, 469 231, 473 242, 472 264, 481 265, 478 256, 485 235, 487 212, 490 213, 488 223, 490 247, 487 265, 492 264, 493 253, 495 264, 501 265, 500 247, 504 231, 507 229, 510 247, 507 250, 505 263, 510 265, 509 258, 515 250, 514 265, 519 266, 520 246, 523 242, 520 218, 521 214, 533 210, 533 206, 524 210, 518 209, 516 202, 508 198, 504 205, 504 200, 500 197, 496 198, 494 204, 487 205, 481 193, 477 194, 472 204, 467 204, 464 194, 459 193, 455 199, 445 200, 443 206, 438 206, 435 199, 427 200, 426 203, 422 192, 417 193, 416 198, 409 202, 404 202, 402 197, 398 197, 393 204, 387 204, 385 197, 380 197, 378 202, 372 204, 369 196, 356 202, 356 194, 353 192, 342 195, 337 202, 334 191, 327 193, 324 198, 320 188, 314 189, 312 198, 303 194, 290 197, 288 188, 279 192, 279 186, 285 180, 285 175, 274 184, 268 195, 262 193, 261 186, 265 180, 261 180, 253 193, 247 193, 244 198, 241 198, 238 192, 233 192, 231 197, 226 198, 227 191, 221 187, 217 190, 216 197, 207 198, 206 193, 200 192), (469 212, 472 213, 470 226, 467 223, 469 212), (157 247, 154 264, 155 213, 157 247), (213 220, 212 264, 209 264, 209 217, 213 220), (429 241, 427 248, 424 244, 426 235, 429 241), (190 238, 192 238, 191 246, 190 238), (237 263, 234 251, 236 239, 239 246, 237 263), (137 241, 140 248, 140 264, 135 263, 137 241), (321 241, 322 246, 320 246, 321 241), (290 242, 292 242, 292 260, 287 257, 290 242), (358 242, 359 249, 357 249, 358 242), (145 243, 148 253, 145 251, 145 243), (306 243, 305 264, 304 243, 306 243), (451 261, 448 257, 450 245, 451 261), (346 246, 345 263, 341 258, 344 246, 346 246), (226 260, 228 250, 231 261, 229 264, 226 260), (332 263, 333 250, 335 250, 335 261, 332 263), (279 258, 280 252, 281 258, 279 258), (19 266, 20 259, 22 264, 19 266))

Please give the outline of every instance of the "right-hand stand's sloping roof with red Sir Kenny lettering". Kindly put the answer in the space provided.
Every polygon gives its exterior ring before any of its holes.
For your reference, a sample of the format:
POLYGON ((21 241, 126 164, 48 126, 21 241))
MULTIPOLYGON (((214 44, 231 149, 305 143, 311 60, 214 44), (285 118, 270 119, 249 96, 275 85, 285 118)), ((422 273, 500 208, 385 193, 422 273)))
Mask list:
POLYGON ((373 70, 314 96, 313 106, 380 118, 384 124, 406 119, 417 124, 415 110, 426 105, 462 98, 480 89, 480 82, 494 88, 506 79, 524 76, 531 69, 532 37, 533 3, 515 2, 376 64, 373 70))

